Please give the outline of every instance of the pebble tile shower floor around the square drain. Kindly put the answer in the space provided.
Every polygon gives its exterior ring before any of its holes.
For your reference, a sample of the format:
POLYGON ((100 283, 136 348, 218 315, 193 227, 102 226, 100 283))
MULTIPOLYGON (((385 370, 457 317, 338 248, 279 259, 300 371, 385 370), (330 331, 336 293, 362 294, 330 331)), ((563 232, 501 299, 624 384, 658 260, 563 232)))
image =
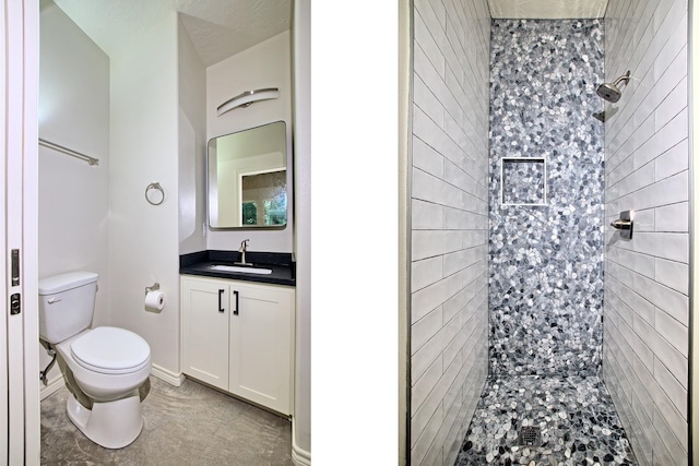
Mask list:
POLYGON ((636 465, 599 377, 490 378, 455 466, 636 465), (518 445, 520 428, 541 428, 542 446, 518 445))

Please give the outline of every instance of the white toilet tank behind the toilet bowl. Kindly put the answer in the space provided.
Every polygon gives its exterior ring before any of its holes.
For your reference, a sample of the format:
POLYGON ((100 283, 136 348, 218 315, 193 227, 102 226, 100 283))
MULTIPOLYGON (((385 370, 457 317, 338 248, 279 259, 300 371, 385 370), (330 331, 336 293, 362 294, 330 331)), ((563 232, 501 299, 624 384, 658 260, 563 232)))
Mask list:
POLYGON ((69 272, 39 280, 39 336, 57 344, 90 328, 98 275, 69 272))

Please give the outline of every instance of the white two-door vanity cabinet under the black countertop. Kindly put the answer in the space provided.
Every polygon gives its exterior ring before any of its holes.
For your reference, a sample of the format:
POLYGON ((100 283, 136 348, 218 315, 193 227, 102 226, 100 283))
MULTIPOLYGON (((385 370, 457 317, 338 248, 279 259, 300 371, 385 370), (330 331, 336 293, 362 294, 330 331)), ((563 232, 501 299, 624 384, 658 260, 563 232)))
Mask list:
POLYGON ((292 415, 294 288, 181 277, 182 372, 292 415))

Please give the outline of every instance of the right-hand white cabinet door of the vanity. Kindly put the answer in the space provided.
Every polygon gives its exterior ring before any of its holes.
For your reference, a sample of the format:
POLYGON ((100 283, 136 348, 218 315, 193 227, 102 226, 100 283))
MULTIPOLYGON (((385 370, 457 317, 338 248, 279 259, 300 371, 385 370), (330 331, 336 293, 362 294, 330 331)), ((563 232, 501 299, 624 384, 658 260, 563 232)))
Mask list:
POLYGON ((294 289, 233 282, 230 285, 228 391, 292 415, 294 289), (237 296, 236 296, 237 295, 237 296))

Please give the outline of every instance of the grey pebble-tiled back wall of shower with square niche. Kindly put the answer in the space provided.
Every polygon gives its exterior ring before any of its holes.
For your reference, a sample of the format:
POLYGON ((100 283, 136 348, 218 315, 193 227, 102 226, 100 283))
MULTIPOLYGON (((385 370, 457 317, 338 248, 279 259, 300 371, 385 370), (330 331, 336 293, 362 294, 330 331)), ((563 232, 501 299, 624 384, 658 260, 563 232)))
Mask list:
POLYGON ((491 374, 600 371, 603 40, 599 20, 493 22, 491 374))

